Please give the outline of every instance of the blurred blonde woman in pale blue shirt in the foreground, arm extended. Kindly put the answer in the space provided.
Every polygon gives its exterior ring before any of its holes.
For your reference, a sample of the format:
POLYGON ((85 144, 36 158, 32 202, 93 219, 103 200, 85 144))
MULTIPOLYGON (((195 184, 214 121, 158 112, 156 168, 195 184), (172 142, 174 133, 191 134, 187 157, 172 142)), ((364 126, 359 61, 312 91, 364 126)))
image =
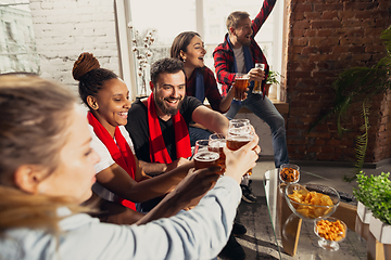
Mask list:
POLYGON ((0 259, 212 259, 229 236, 241 176, 261 151, 257 138, 226 150, 225 176, 218 167, 188 174, 137 224, 100 223, 79 206, 91 196, 99 156, 74 96, 36 76, 0 76, 0 259), (192 210, 159 219, 199 196, 192 210))

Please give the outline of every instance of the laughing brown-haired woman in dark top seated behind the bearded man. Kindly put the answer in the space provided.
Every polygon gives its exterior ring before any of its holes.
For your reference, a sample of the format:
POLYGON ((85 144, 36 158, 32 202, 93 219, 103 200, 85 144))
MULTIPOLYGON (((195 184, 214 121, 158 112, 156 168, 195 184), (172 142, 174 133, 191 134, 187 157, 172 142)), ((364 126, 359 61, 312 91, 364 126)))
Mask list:
MULTIPOLYGON (((204 64, 206 50, 204 49, 204 42, 200 35, 195 31, 180 32, 175 37, 169 53, 171 57, 177 58, 184 63, 186 95, 194 96, 202 103, 204 102, 204 99, 207 99, 212 109, 223 114, 226 113, 234 99, 235 87, 228 90, 225 98, 222 98, 213 72, 204 64)), ((211 132, 203 126, 192 123, 189 127, 189 134, 190 143, 193 146, 197 140, 207 140, 211 132)), ((247 179, 242 182, 242 188, 248 190, 247 186, 243 187, 243 185, 248 183, 247 179)), ((229 259, 242 259, 243 256, 245 256, 244 250, 234 235, 244 235, 245 232, 247 229, 244 225, 235 222, 232 234, 220 255, 228 257, 229 259)))

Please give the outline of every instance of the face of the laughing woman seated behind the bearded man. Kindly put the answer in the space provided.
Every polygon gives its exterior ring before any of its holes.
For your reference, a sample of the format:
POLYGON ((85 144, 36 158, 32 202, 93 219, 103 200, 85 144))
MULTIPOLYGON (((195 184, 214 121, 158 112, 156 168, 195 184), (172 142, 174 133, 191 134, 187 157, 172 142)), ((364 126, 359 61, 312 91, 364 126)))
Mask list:
POLYGON ((199 36, 194 36, 186 47, 186 52, 181 52, 182 58, 186 60, 185 67, 203 67, 205 54, 203 41, 199 36))

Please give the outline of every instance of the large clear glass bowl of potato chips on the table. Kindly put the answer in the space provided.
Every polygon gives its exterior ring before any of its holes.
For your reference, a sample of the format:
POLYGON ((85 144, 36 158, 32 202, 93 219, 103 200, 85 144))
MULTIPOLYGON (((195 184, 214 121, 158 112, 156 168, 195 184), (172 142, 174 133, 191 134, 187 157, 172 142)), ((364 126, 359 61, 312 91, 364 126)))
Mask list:
POLYGON ((331 216, 341 199, 333 187, 320 184, 290 183, 286 186, 285 195, 289 208, 303 220, 331 216))

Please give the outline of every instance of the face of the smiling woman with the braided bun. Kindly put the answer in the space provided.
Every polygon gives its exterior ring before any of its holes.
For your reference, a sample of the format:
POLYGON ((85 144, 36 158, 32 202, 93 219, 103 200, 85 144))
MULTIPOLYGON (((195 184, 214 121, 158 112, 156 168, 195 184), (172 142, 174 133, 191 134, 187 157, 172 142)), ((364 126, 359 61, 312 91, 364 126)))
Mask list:
POLYGON ((130 101, 124 81, 118 78, 106 80, 92 100, 94 103, 90 107, 94 116, 110 133, 114 134, 115 127, 127 123, 130 101))

